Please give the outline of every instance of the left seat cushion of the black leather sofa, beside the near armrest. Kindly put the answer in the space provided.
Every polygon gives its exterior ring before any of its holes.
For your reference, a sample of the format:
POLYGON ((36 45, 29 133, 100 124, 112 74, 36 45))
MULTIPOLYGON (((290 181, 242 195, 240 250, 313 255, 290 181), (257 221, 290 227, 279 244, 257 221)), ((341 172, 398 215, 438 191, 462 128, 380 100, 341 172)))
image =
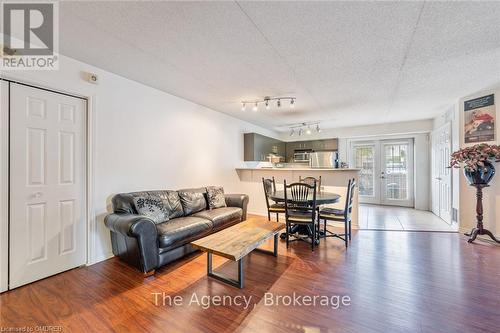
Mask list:
POLYGON ((212 222, 200 217, 186 216, 160 223, 156 229, 160 248, 174 248, 208 235, 212 230, 212 222))

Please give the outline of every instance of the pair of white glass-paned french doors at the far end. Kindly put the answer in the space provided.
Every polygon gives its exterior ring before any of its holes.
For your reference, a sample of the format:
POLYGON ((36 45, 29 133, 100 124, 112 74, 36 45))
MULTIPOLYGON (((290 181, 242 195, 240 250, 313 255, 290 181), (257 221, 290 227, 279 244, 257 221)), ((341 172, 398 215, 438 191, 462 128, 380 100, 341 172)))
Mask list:
POLYGON ((414 206, 413 139, 354 141, 351 165, 360 168, 359 201, 414 206))

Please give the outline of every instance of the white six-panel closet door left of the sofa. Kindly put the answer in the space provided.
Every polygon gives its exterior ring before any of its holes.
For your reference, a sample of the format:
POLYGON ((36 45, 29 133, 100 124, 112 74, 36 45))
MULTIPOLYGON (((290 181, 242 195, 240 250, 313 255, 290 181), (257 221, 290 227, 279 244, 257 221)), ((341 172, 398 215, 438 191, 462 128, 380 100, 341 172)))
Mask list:
POLYGON ((83 99, 10 85, 9 288, 86 262, 83 99))

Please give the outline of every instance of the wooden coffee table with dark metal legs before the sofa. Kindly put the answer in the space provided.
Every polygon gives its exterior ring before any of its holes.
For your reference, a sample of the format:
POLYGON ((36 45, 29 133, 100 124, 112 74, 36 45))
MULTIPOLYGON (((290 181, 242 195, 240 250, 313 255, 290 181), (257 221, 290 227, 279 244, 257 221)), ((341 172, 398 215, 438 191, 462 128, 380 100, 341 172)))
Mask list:
POLYGON ((243 221, 232 227, 226 228, 207 237, 200 238, 191 245, 207 252, 207 275, 230 284, 243 288, 243 259, 257 250, 266 254, 278 256, 278 233, 285 228, 284 223, 270 221, 243 221), (269 238, 274 237, 274 250, 262 250, 257 247, 269 238), (231 259, 238 262, 238 280, 217 274, 212 270, 212 255, 231 259))

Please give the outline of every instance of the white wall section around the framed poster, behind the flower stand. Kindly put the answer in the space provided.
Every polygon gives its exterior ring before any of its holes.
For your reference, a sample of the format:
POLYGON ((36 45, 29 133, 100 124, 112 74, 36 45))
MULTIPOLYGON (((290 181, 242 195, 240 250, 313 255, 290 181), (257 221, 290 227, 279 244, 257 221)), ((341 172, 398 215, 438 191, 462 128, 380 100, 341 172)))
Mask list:
MULTIPOLYGON (((498 120, 500 119, 500 83, 493 86, 490 89, 480 91, 469 96, 463 97, 458 102, 459 107, 459 125, 458 131, 460 136, 460 147, 470 146, 470 144, 465 144, 464 140, 464 101, 471 98, 481 97, 488 94, 495 94, 495 106, 496 106, 496 140, 495 142, 490 142, 493 144, 498 144, 500 142, 500 124, 498 120)), ((500 170, 500 164, 496 163, 495 167, 497 169, 497 175, 493 178, 490 183, 490 187, 483 189, 483 210, 484 210, 484 227, 489 229, 497 238, 500 236, 500 176, 498 170, 500 170)), ((472 186, 469 186, 465 177, 463 176, 462 170, 460 170, 460 231, 470 231, 476 225, 476 191, 472 186)), ((486 237, 486 239, 489 239, 486 237)))

